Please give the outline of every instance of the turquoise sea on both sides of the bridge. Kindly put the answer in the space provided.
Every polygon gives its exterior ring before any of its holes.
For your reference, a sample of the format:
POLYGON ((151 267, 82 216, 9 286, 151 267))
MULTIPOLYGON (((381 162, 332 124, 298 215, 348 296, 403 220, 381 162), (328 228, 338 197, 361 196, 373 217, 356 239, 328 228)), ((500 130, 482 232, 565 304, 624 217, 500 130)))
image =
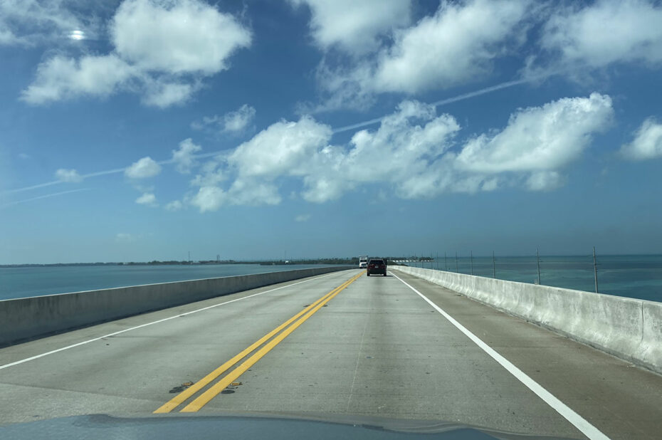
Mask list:
MULTIPOLYGON (((662 255, 598 256, 600 293, 662 301, 662 255)), ((456 271, 455 255, 410 266, 456 271)), ((53 293, 78 292, 138 284, 167 283, 270 271, 290 271, 315 266, 260 266, 258 264, 174 266, 57 266, 0 268, 0 300, 53 293)), ((473 274, 524 283, 537 282, 534 256, 473 257, 473 274)), ((471 258, 458 257, 457 270, 472 272, 471 258)), ((540 256, 540 283, 593 292, 592 256, 540 256)))

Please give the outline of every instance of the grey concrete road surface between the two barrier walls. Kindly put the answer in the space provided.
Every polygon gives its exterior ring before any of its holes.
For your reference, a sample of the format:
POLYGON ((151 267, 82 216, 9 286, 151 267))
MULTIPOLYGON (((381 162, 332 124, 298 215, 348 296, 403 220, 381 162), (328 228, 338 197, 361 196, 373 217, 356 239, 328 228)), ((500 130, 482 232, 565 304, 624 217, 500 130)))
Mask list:
POLYGON ((171 390, 200 384, 307 310, 313 314, 293 320, 300 326, 284 338, 280 333, 282 341, 270 339, 248 355, 256 362, 228 378, 235 385, 222 385, 216 391, 225 392, 206 404, 187 406, 213 394, 206 390, 232 374, 231 367, 170 414, 186 407, 196 414, 427 419, 577 439, 585 438, 576 427, 582 426, 592 438, 600 432, 613 439, 659 438, 659 375, 404 273, 362 273, 248 290, 1 349, 0 425, 78 414, 151 416, 179 395, 171 390), (327 293, 336 295, 329 299, 327 293), (322 298, 328 302, 315 303, 322 298), (516 374, 532 379, 534 389, 543 389, 538 394, 544 397, 546 390, 561 403, 554 397, 547 402, 579 415, 562 417, 436 307, 512 362, 516 374), (189 313, 201 308, 206 310, 189 313))

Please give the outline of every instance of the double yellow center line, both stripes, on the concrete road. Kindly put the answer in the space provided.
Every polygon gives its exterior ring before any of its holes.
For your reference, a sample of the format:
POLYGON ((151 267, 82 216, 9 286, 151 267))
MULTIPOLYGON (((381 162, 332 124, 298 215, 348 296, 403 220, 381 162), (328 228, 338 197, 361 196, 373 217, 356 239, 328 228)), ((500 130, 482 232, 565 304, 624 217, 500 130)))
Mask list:
POLYGON ((241 376, 241 374, 243 374, 244 372, 246 372, 246 370, 251 368, 251 366, 253 366, 256 362, 258 362, 258 360, 261 360, 261 358, 264 355, 266 355, 268 352, 270 352, 273 349, 273 347, 278 345, 278 343, 280 343, 283 339, 285 339, 285 337, 288 337, 288 335, 290 335, 291 332, 296 330, 296 328, 298 328, 299 325, 303 324, 305 320, 308 320, 308 318, 314 315, 315 312, 317 312, 317 310, 320 310, 320 308, 322 308, 326 303, 332 300, 332 298, 334 298, 335 295, 340 293, 341 290, 347 288, 347 286, 350 286, 350 284, 354 283, 354 281, 356 281, 360 276, 362 276, 362 274, 363 272, 358 273, 356 276, 350 278, 349 280, 345 281, 345 283, 342 283, 337 288, 331 290, 329 293, 322 296, 322 298, 316 300, 315 303, 308 305, 308 307, 301 310, 292 318, 278 325, 278 327, 271 330, 260 339, 256 340, 256 342, 253 342, 253 344, 246 347, 245 350, 238 353, 238 355, 233 357, 231 360, 228 360, 228 362, 225 362, 223 365, 216 368, 216 370, 207 374, 198 382, 191 385, 191 387, 185 389, 183 392, 177 394, 177 396, 170 399, 169 402, 165 403, 164 405, 162 405, 162 407, 154 411, 154 414, 171 412, 173 409, 179 407, 179 405, 186 402, 187 399, 193 397, 194 394, 199 392, 201 389, 206 387, 211 382, 214 382, 214 380, 219 376, 221 376, 221 374, 229 370, 231 367, 233 367, 233 365, 241 361, 244 357, 250 355, 251 352, 256 350, 261 345, 265 344, 266 342, 266 345, 261 347, 260 350, 258 350, 251 357, 248 357, 247 360, 243 361, 241 365, 236 367, 234 370, 226 374, 226 376, 224 376, 221 380, 219 380, 219 382, 216 382, 216 384, 212 385, 211 387, 209 387, 209 389, 207 389, 205 392, 203 392, 198 397, 196 397, 196 399, 194 399, 193 402, 187 404, 186 407, 184 407, 181 410, 181 412, 196 412, 202 407, 204 407, 205 404, 207 404, 211 399, 214 399, 214 397, 216 397, 216 394, 219 394, 221 391, 226 389, 226 387, 228 387, 229 384, 234 382, 239 376, 241 376), (281 332, 281 330, 283 329, 285 330, 281 332))

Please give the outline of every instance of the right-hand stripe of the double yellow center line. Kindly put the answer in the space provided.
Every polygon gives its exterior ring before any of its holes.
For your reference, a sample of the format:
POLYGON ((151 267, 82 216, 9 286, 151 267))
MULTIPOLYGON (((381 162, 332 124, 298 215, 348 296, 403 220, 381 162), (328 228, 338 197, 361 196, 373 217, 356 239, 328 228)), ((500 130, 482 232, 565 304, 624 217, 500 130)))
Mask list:
POLYGON ((314 315, 315 312, 317 312, 317 310, 320 310, 320 308, 322 308, 326 303, 332 300, 335 297, 335 295, 340 293, 342 289, 354 283, 354 281, 356 281, 357 278, 359 278, 359 276, 362 276, 362 273, 359 273, 357 276, 351 278, 343 286, 340 286, 339 288, 332 290, 330 292, 331 295, 325 295, 326 299, 322 300, 322 302, 315 305, 315 307, 312 308, 312 310, 310 310, 308 313, 306 313, 306 315, 303 316, 303 318, 300 318, 296 323, 294 323, 285 331, 280 333, 280 335, 274 337, 273 340, 270 340, 267 345, 265 345, 260 350, 258 350, 258 352, 256 352, 253 356, 245 360, 241 365, 236 367, 236 369, 232 370, 232 372, 230 372, 226 377, 221 379, 219 382, 216 382, 216 384, 214 384, 211 388, 207 389, 206 392, 202 393, 197 399, 195 399, 190 404, 186 405, 186 407, 182 409, 182 412, 196 412, 202 407, 204 407, 204 405, 207 404, 211 399, 214 399, 214 397, 216 397, 217 394, 219 394, 221 391, 226 389, 231 382, 234 382, 239 376, 241 376, 241 374, 246 372, 246 370, 252 367, 256 362, 258 362, 258 360, 261 360, 261 358, 264 355, 266 355, 268 352, 270 352, 273 349, 273 347, 278 345, 283 339, 285 339, 285 337, 288 337, 288 335, 290 335, 291 332, 293 332, 301 324, 303 324, 305 320, 308 320, 308 318, 314 315))

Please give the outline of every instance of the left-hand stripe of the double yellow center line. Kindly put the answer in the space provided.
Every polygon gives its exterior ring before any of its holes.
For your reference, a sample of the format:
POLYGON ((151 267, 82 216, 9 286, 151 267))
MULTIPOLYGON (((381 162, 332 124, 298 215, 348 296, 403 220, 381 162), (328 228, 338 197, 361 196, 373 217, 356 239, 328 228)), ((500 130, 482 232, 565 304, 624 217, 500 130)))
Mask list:
POLYGON ((154 411, 154 414, 171 412, 173 409, 177 408, 180 404, 184 403, 186 401, 186 399, 189 399, 189 397, 193 396, 196 392, 199 392, 201 389, 206 387, 207 384, 214 381, 214 379, 219 377, 221 374, 226 372, 226 370, 228 370, 233 365, 235 365, 237 362, 239 362, 244 357, 249 355, 251 352, 253 352, 253 350, 256 350, 256 348, 258 348, 264 342, 266 342, 271 337, 273 337, 273 335, 277 334, 278 332, 280 332, 280 330, 283 330, 283 328, 285 328, 288 325, 290 325, 291 323, 293 323, 293 321, 300 318, 301 315, 304 315, 305 313, 307 313, 312 308, 315 308, 315 306, 318 305, 319 303, 321 303, 323 300, 325 300, 325 298, 328 298, 330 295, 333 295, 334 293, 339 292, 340 290, 342 290, 346 286, 349 286, 349 283, 352 282, 352 281, 354 281, 354 278, 350 279, 350 281, 345 281, 345 283, 342 283, 337 288, 331 290, 329 293, 322 296, 322 298, 316 300, 314 303, 310 304, 307 308, 301 310, 299 313, 294 315, 292 318, 290 318, 290 319, 286 320, 284 323, 278 325, 278 327, 276 327, 275 329, 268 332, 266 335, 261 337, 256 342, 253 342, 253 344, 251 344, 245 350, 238 353, 238 355, 234 356, 231 360, 228 360, 228 362, 225 362, 223 365, 216 368, 216 370, 212 371, 211 373, 207 374, 205 377, 200 379, 198 382, 191 385, 191 387, 185 389, 183 392, 177 394, 177 396, 173 397, 168 402, 163 404, 161 407, 159 407, 159 409, 154 411))

